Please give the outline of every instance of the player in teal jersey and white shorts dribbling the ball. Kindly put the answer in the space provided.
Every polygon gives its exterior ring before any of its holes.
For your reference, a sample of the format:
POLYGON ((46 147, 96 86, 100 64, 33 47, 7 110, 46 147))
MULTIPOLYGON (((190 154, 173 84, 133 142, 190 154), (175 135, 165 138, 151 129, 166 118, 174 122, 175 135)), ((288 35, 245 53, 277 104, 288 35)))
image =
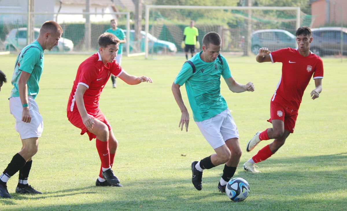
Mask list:
POLYGON ((220 94, 220 76, 232 92, 254 91, 253 83, 238 84, 231 76, 227 60, 220 54, 222 40, 215 32, 207 33, 202 40, 202 51, 183 64, 174 83, 172 93, 181 110, 179 127, 188 131, 189 113, 182 100, 180 87, 185 84, 193 118, 202 135, 215 153, 192 162, 192 183, 202 189, 202 172, 225 163, 218 189, 225 192, 230 178, 235 174, 242 154, 238 131, 227 103, 220 94))

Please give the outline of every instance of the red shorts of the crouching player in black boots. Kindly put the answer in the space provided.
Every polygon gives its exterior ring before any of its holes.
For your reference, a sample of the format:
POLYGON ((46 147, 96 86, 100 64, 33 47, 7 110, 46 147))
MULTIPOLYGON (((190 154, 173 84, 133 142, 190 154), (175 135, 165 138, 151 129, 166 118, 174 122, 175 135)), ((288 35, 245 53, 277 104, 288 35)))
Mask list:
MULTIPOLYGON (((93 119, 98 119, 105 123, 109 130, 111 130, 111 125, 107 121, 105 115, 99 110, 97 113, 90 113, 87 111, 88 116, 92 117, 93 119)), ((86 126, 83 124, 82 117, 79 114, 78 110, 75 111, 67 111, 67 118, 70 121, 71 124, 81 129, 81 135, 87 133, 89 136, 89 141, 91 141, 93 138, 96 138, 96 135, 94 133, 91 133, 87 130, 86 126)))

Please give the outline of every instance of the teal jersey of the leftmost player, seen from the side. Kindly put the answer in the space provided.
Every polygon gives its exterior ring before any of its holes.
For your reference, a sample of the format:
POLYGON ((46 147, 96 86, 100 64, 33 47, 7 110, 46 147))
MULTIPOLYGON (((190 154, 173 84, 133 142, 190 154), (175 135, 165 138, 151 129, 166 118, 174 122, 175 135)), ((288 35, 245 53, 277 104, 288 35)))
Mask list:
POLYGON ((11 83, 14 86, 10 95, 11 97, 19 97, 18 82, 22 71, 30 73, 30 77, 26 82, 28 86, 28 95, 36 98, 39 93, 39 81, 43 70, 43 50, 39 42, 35 41, 20 51, 18 54, 15 70, 11 83))

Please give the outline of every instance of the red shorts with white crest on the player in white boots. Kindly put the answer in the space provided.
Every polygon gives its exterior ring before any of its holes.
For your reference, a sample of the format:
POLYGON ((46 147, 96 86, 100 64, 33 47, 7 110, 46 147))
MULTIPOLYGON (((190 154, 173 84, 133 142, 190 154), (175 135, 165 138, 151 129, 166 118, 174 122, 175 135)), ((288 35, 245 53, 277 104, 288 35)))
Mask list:
POLYGON ((293 110, 285 107, 279 103, 271 101, 270 103, 270 119, 271 123, 274 119, 279 119, 284 122, 284 129, 290 133, 294 132, 296 118, 298 117, 298 110, 293 110))

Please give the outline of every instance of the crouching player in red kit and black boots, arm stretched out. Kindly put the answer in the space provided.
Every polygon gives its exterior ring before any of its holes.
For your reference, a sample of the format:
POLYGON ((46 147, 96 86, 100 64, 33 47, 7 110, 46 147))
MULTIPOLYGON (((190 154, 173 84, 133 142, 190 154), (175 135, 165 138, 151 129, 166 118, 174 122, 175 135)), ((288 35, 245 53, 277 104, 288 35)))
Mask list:
POLYGON ((112 171, 118 142, 106 117, 99 109, 102 89, 110 75, 119 77, 130 85, 150 82, 146 76, 129 75, 116 62, 119 39, 111 33, 99 37, 99 51, 79 65, 67 105, 67 117, 71 124, 87 133, 89 140, 96 138, 96 149, 101 160, 96 186, 122 186, 112 171))

